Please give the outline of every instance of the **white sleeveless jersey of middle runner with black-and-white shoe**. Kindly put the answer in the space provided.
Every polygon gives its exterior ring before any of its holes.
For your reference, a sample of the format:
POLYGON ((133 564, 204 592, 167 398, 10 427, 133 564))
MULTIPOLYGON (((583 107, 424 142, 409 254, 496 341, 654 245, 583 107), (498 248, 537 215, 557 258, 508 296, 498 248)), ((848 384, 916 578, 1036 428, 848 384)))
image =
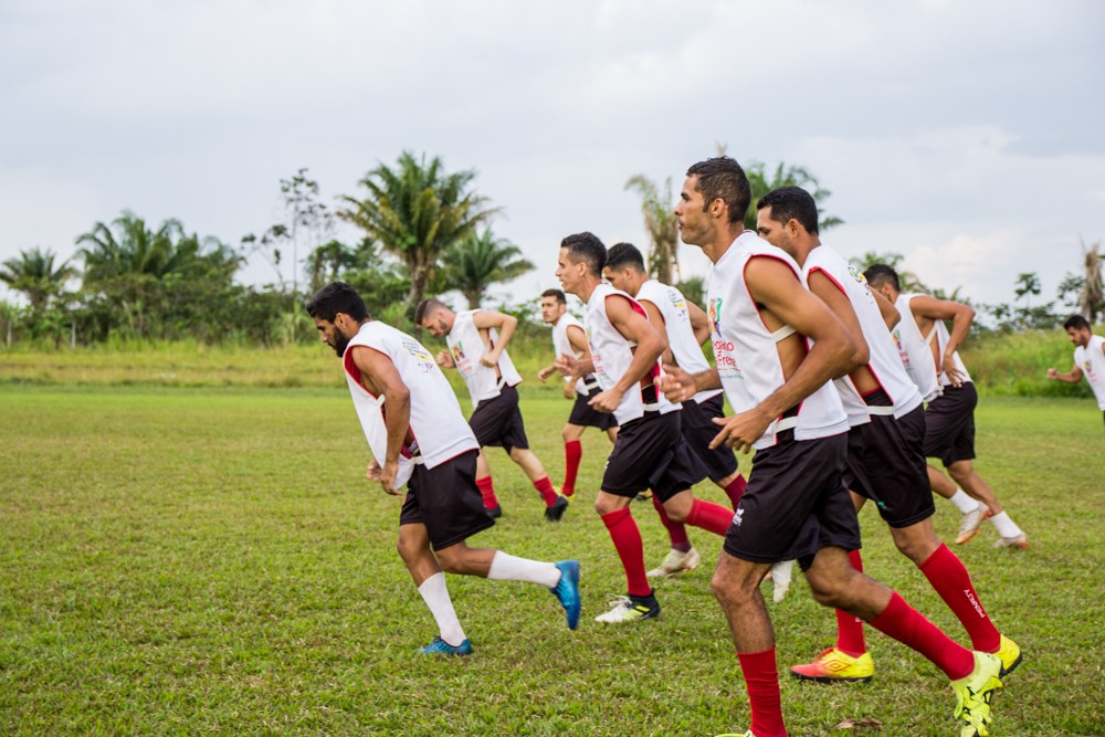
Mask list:
MULTIPOLYGON (((609 284, 599 284, 591 292, 591 298, 587 301, 587 306, 583 308, 583 330, 587 333, 587 344, 591 349, 594 378, 599 380, 599 386, 603 391, 613 389, 618 380, 629 370, 630 364, 633 362, 633 347, 636 345, 610 324, 610 318, 607 316, 607 297, 611 296, 628 299, 634 310, 649 319, 644 307, 638 304, 633 297, 624 292, 619 292, 609 284)), ((660 361, 656 361, 652 367, 651 378, 655 379, 659 376, 660 361)), ((631 420, 640 419, 646 409, 650 411, 659 410, 661 414, 683 409, 681 404, 667 401, 663 393, 657 392, 657 394, 655 404, 646 407, 640 387, 631 388, 622 394, 621 403, 614 410, 618 424, 624 425, 631 420)))

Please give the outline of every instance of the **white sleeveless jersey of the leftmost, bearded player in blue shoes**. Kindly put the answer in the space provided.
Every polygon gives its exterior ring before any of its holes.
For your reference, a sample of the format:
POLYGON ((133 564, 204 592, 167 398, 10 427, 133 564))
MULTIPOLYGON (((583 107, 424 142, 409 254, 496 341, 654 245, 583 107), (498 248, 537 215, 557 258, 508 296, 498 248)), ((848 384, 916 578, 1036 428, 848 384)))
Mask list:
POLYGON ((357 346, 371 348, 391 359, 410 390, 410 434, 399 457, 397 488, 410 478, 415 463, 432 468, 461 453, 478 450, 480 443, 461 413, 456 394, 430 351, 406 333, 383 323, 369 322, 361 325, 360 331, 349 341, 341 364, 368 446, 380 465, 388 451, 385 424, 388 408, 383 406, 383 397, 373 397, 360 382, 360 370, 352 360, 352 349, 357 346))

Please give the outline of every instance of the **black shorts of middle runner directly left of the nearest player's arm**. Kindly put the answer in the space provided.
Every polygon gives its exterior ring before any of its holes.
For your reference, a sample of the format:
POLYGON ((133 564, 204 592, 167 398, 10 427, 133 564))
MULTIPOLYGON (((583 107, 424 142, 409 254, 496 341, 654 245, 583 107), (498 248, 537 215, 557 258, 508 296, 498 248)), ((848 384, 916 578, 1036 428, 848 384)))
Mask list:
POLYGON ((646 488, 666 502, 706 477, 680 430, 683 412, 645 412, 618 430, 614 450, 602 473, 602 491, 635 496, 646 488))

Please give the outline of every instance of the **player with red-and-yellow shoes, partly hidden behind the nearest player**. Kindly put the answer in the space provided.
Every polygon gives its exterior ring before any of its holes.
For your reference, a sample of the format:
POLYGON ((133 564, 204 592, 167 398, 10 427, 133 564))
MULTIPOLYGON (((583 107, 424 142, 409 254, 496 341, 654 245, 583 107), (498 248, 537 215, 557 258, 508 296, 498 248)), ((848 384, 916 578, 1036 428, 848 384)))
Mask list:
MULTIPOLYGON (((802 267, 807 288, 833 310, 857 346, 857 366, 833 383, 848 414, 844 482, 856 512, 867 499, 878 507, 894 545, 925 575, 970 635, 971 647, 1001 659, 1001 676, 1021 661, 1020 647, 1006 638, 982 608, 970 573, 933 529, 933 494, 925 461, 925 410, 909 380, 860 271, 818 234, 818 206, 799 187, 761 197, 756 230, 802 267)), ((860 551, 849 555, 863 570, 860 551)), ((863 620, 836 611, 836 645, 792 675, 809 681, 870 681, 874 663, 863 638, 863 620)))

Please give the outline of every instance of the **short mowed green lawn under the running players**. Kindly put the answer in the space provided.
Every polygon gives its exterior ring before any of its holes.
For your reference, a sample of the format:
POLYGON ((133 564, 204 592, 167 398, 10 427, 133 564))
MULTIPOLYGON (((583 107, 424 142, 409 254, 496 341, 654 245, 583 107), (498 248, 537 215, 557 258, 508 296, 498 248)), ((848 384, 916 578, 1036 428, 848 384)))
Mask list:
MULTIPOLYGON (((559 483, 568 403, 527 390, 523 409, 559 483)), ((994 699, 991 734, 1105 734, 1101 412, 1088 401, 983 399, 977 417, 978 467, 1031 543, 994 549, 987 525, 956 548, 1024 651, 994 699)), ((580 493, 559 525, 493 450, 505 516, 474 538, 578 558, 579 630, 539 587, 450 577, 475 654, 442 660, 415 652, 436 630, 394 552, 400 499, 362 481, 369 456, 344 390, 0 386, 0 731, 744 731, 744 682, 709 592, 718 538, 692 531, 704 565, 657 585, 657 621, 592 621, 624 587, 590 506, 608 448, 585 435, 580 493)), ((724 498, 708 484, 696 491, 724 498)), ((958 514, 937 508, 950 539, 958 514)), ((654 565, 663 529, 651 505, 633 510, 654 565)), ((864 509, 861 520, 867 571, 965 641, 877 516, 864 509)), ((832 613, 796 578, 769 603, 783 673, 834 634, 832 613)), ((790 734, 958 734, 943 675, 870 630, 869 642, 870 684, 782 676, 790 734), (838 728, 845 719, 881 726, 838 728)))

